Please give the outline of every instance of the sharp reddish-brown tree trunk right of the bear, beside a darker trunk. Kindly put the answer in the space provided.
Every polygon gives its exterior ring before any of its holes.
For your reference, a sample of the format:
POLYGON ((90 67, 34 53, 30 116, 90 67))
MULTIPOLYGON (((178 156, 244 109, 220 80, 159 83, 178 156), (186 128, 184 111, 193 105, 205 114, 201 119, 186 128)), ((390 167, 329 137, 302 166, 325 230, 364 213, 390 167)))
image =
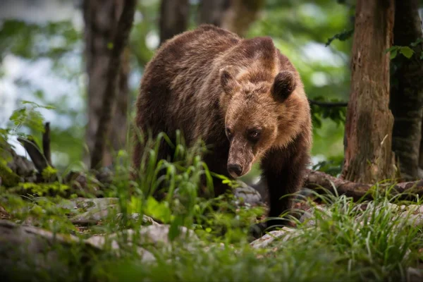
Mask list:
POLYGON ((389 54, 385 52, 392 43, 393 16, 393 0, 357 0, 345 123, 345 180, 375 183, 394 176, 389 54))

